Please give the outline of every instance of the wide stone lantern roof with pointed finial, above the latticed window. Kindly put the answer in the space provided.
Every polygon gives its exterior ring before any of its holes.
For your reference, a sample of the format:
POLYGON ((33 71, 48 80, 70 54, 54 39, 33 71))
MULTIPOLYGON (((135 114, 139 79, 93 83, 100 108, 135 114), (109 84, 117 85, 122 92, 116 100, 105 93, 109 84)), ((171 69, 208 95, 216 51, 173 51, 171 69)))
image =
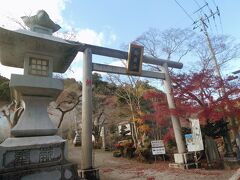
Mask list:
POLYGON ((79 44, 52 36, 51 33, 60 26, 53 23, 43 10, 22 19, 30 31, 0 28, 0 62, 5 66, 23 68, 26 54, 39 54, 52 58, 53 72, 64 73, 77 55, 79 44))

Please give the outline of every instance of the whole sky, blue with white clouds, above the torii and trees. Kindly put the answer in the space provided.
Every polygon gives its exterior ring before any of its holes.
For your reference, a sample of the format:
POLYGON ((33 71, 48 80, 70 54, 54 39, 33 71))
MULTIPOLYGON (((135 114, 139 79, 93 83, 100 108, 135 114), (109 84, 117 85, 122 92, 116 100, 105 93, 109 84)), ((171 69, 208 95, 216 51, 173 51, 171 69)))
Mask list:
MULTIPOLYGON (((50 17, 63 27, 62 32, 74 29, 77 34, 76 40, 116 49, 133 41, 149 28, 159 30, 172 27, 192 28, 193 20, 199 18, 199 14, 193 12, 208 2, 210 9, 215 11, 217 5, 221 13, 221 23, 216 17, 217 28, 212 21, 209 32, 231 35, 240 41, 238 0, 177 0, 192 19, 175 0, 0 0, 0 2, 0 26, 17 28, 8 17, 18 19, 20 16, 34 15, 37 10, 45 9, 50 17)), ((204 12, 209 14, 208 7, 204 8, 204 12)), ((80 54, 74 60, 72 69, 75 73, 68 72, 69 77, 80 78, 81 58, 80 54)), ((240 68, 240 63, 238 64, 239 66, 235 66, 236 69, 233 70, 240 68)), ((9 77, 9 72, 12 71, 0 66, 0 74, 9 77)), ((21 70, 14 72, 21 73, 21 70)))

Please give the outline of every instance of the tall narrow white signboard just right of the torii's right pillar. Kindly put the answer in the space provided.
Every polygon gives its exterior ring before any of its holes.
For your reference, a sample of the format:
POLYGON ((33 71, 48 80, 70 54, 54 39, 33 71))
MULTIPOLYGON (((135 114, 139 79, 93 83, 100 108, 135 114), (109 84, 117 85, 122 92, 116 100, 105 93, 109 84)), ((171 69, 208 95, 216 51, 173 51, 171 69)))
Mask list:
POLYGON ((190 119, 192 123, 192 137, 195 144, 195 151, 204 150, 202 133, 198 119, 190 119))

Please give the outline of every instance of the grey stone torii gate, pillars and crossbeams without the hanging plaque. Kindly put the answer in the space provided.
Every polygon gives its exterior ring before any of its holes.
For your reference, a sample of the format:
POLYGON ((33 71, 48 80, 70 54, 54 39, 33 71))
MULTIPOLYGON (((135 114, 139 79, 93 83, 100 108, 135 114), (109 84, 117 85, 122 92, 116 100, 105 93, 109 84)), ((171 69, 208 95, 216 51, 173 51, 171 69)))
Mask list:
MULTIPOLYGON (((128 75, 126 68, 109 66, 104 64, 92 63, 92 55, 101 55, 118 59, 128 59, 128 52, 99 47, 89 44, 79 43, 79 51, 83 52, 83 88, 82 88, 82 155, 81 168, 82 177, 94 177, 96 170, 92 164, 92 71, 108 72, 115 74, 128 75)), ((181 69, 183 64, 168 61, 149 56, 143 56, 143 62, 146 64, 154 64, 162 66, 163 73, 142 71, 138 76, 150 77, 164 80, 165 91, 167 95, 168 106, 175 109, 175 103, 172 96, 172 85, 169 76, 168 67, 181 69)), ((186 152, 185 143, 182 138, 181 125, 179 119, 171 115, 174 135, 176 139, 178 154, 182 156, 186 152)))

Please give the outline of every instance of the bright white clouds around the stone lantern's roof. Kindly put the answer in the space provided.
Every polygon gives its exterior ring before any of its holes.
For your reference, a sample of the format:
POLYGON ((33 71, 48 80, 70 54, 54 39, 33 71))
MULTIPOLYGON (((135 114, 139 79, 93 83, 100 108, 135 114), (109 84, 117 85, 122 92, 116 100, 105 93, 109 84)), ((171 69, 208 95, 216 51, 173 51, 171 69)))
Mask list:
MULTIPOLYGON (((50 16, 50 18, 62 26, 65 30, 71 30, 72 28, 64 17, 62 11, 65 10, 65 4, 70 0, 7 0, 2 1, 0 6, 0 26, 8 29, 18 29, 20 26, 13 20, 21 21, 21 16, 35 15, 38 10, 44 9, 50 16)), ((76 27, 77 29, 77 27, 76 27)), ((64 37, 60 32, 58 35, 64 37)), ((82 43, 93 44, 97 46, 110 46, 117 39, 113 30, 109 26, 103 27, 102 31, 96 32, 93 29, 85 28, 79 29, 75 33, 74 41, 82 43)), ((82 53, 75 58, 71 65, 71 70, 68 70, 64 77, 75 78, 77 80, 82 79, 82 53)), ((7 78, 10 78, 10 74, 22 74, 22 69, 10 68, 2 66, 0 64, 0 74, 7 78)))

